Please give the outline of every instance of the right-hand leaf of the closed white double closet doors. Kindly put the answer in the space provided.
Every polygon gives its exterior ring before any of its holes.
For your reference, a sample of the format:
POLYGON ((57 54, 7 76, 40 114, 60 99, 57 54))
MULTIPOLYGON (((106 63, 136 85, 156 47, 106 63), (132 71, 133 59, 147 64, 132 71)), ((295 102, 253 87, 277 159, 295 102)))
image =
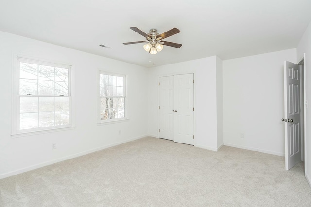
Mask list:
POLYGON ((174 141, 193 145, 193 74, 174 77, 174 141))

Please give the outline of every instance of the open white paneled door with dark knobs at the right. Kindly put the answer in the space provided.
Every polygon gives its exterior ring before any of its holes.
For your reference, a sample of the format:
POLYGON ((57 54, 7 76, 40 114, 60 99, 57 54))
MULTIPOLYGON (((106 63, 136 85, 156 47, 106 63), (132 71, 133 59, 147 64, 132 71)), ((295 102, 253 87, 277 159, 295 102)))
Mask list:
POLYGON ((301 160, 301 111, 299 65, 284 61, 285 169, 301 160))

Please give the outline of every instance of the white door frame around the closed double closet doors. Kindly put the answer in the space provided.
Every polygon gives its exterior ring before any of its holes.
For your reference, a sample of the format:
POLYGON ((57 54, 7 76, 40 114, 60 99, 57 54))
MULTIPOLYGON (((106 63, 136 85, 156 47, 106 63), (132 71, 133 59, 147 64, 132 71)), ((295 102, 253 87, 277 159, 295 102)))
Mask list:
MULTIPOLYGON (((167 74, 162 74, 158 75, 157 77, 157 83, 160 82, 161 77, 166 77, 166 76, 176 76, 176 75, 185 75, 185 74, 193 74, 193 107, 194 107, 194 113, 193 113, 193 135, 194 135, 194 140, 193 140, 193 146, 196 144, 196 93, 195 93, 195 72, 185 72, 185 73, 167 73, 167 74)), ((157 87, 157 105, 160 106, 160 87, 157 87)), ((160 128, 160 110, 158 109, 157 112, 157 127, 160 128)), ((160 138, 159 132, 157 132, 157 138, 160 138)))

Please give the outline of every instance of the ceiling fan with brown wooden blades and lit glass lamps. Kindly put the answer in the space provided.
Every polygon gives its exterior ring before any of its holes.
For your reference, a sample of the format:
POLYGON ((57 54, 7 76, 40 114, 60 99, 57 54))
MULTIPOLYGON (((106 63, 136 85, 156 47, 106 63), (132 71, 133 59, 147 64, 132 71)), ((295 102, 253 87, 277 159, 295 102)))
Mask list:
POLYGON ((182 44, 179 44, 179 43, 163 41, 164 38, 167 38, 174 34, 179 33, 180 30, 178 30, 177 28, 173 28, 162 34, 157 33, 156 29, 151 29, 148 34, 146 34, 145 32, 142 32, 137 27, 130 27, 130 29, 146 37, 146 40, 137 41, 137 42, 125 42, 123 44, 130 45, 130 44, 136 44, 136 43, 147 43, 143 47, 147 52, 153 55, 156 54, 157 52, 160 52, 163 49, 163 45, 174 47, 174 48, 180 48, 182 46, 182 44))

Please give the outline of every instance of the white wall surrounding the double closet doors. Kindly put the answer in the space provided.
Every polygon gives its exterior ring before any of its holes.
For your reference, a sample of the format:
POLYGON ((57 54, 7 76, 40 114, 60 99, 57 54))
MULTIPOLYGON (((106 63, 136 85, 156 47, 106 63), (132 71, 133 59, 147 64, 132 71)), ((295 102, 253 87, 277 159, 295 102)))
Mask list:
POLYGON ((216 58, 212 56, 149 69, 148 133, 151 136, 158 137, 159 77, 194 73, 195 146, 217 150, 216 58))

